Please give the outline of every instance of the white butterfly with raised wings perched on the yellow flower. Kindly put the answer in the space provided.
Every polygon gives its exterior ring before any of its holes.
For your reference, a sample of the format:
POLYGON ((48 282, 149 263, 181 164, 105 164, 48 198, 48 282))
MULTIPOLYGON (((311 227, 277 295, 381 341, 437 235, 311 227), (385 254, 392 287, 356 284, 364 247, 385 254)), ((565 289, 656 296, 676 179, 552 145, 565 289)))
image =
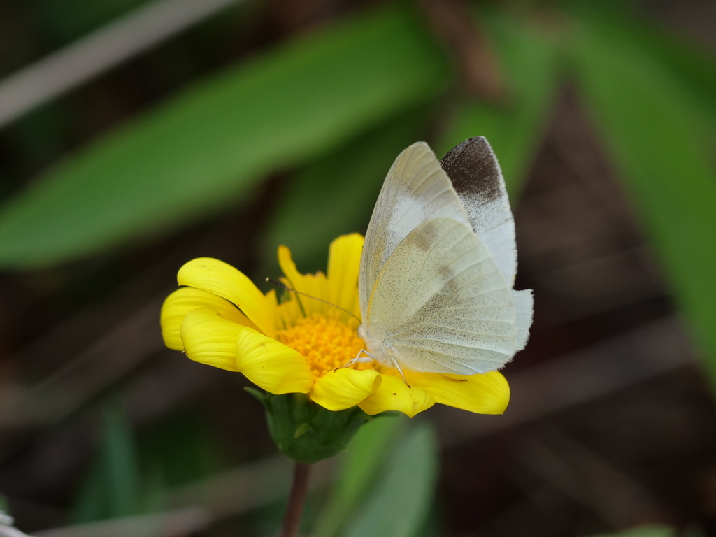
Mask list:
POLYGON ((515 222, 484 137, 438 162, 425 142, 385 178, 365 236, 359 335, 369 356, 419 372, 499 369, 527 343, 532 291, 514 291, 515 222))

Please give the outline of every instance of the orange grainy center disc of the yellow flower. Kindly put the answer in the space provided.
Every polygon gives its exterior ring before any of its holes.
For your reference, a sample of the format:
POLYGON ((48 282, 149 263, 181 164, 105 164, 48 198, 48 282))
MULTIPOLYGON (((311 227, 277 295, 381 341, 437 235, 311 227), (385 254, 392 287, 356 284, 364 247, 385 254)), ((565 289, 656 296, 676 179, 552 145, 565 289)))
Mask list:
MULTIPOLYGON (((316 379, 345 365, 365 349, 365 343, 354 329, 320 314, 299 319, 291 328, 280 330, 276 339, 303 354, 316 379)), ((356 364, 357 369, 370 367, 370 364, 356 364)))

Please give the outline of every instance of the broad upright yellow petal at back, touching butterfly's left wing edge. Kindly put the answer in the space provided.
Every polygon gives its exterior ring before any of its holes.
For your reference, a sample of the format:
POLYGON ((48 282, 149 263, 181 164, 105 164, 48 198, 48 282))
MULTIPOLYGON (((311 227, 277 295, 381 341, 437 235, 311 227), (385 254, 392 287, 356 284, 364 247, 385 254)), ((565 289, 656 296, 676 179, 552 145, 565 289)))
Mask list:
POLYGON ((328 254, 328 301, 360 316, 358 272, 363 236, 342 235, 331 243, 328 254))

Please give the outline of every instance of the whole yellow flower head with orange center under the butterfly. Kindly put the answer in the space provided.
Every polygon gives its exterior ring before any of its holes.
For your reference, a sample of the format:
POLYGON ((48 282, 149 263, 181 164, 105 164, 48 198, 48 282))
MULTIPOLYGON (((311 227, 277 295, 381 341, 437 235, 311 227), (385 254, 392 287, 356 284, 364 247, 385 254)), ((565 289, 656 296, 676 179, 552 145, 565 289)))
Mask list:
POLYGON ((369 415, 397 410, 412 417, 439 402, 501 414, 510 389, 500 372, 462 377, 408 370, 409 387, 396 369, 378 362, 337 369, 365 348, 357 335, 362 246, 358 234, 334 240, 327 276, 300 274, 289 249, 279 247, 286 286, 318 299, 289 292, 280 304, 276 291, 261 293, 223 261, 189 261, 177 275, 182 287, 162 306, 164 342, 196 362, 241 372, 267 392, 306 393, 328 410, 358 405, 369 415))

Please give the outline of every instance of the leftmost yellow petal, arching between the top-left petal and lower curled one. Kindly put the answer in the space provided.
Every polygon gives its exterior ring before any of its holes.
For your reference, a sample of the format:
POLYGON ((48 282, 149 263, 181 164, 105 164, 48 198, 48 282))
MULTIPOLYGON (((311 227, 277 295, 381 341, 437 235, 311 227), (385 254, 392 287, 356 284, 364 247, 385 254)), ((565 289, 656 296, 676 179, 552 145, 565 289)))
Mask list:
POLYGON ((170 294, 162 304, 162 337, 167 347, 177 351, 184 350, 180 335, 181 323, 186 314, 197 308, 211 308, 224 319, 256 328, 246 315, 221 296, 193 287, 182 287, 170 294))

